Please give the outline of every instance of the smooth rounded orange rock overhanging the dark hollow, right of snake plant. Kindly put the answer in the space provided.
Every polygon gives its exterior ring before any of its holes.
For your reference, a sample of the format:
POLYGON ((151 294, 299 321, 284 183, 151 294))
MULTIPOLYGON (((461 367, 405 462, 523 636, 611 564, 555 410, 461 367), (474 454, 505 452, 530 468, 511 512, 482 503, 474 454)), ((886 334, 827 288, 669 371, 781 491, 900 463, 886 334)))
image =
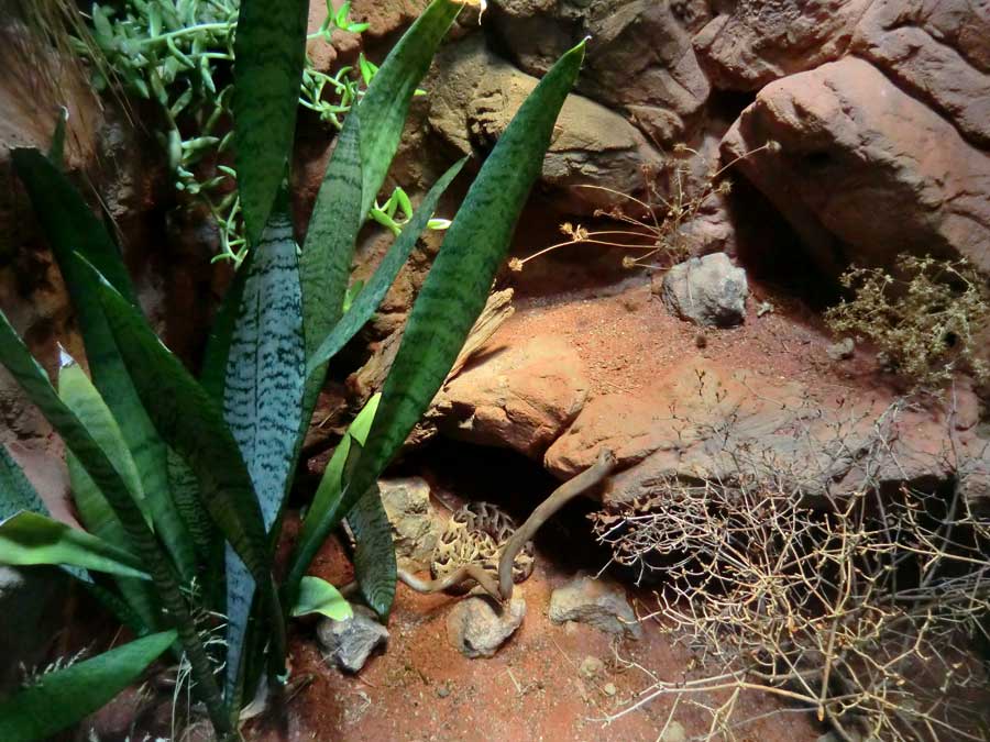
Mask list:
POLYGON ((451 438, 541 457, 587 398, 581 358, 558 337, 540 337, 484 356, 437 396, 438 429, 451 438))

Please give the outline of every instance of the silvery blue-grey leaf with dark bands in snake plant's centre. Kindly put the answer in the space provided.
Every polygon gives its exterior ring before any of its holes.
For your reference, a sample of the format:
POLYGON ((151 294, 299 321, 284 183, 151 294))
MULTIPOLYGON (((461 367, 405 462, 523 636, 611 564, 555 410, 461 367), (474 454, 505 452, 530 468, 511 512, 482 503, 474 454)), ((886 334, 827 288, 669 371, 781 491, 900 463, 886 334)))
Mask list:
MULTIPOLYGON (((248 464, 266 531, 292 484, 305 348, 299 264, 288 199, 279 198, 254 250, 231 335, 223 417, 248 464)), ((227 556, 228 689, 237 682, 254 583, 227 556)))

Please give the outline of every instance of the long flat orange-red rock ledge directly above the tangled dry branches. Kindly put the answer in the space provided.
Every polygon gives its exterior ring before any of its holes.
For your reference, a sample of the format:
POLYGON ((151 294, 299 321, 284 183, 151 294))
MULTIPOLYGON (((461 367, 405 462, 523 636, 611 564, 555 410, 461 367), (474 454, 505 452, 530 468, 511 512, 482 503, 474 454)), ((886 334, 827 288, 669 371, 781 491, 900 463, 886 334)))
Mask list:
MULTIPOLYGON (((959 403, 976 402, 967 395, 959 403)), ((880 486, 932 486, 954 476, 945 456, 952 445, 970 468, 990 470, 990 452, 971 432, 958 432, 949 442, 944 413, 892 405, 873 394, 829 407, 772 369, 733 368, 694 356, 636 396, 592 399, 547 452, 544 464, 568 479, 591 466, 601 448, 610 448, 618 469, 604 486, 607 502, 649 498, 676 479, 766 483, 816 505, 861 490, 865 465, 869 480, 880 486)), ((972 499, 978 484, 974 477, 972 499)))

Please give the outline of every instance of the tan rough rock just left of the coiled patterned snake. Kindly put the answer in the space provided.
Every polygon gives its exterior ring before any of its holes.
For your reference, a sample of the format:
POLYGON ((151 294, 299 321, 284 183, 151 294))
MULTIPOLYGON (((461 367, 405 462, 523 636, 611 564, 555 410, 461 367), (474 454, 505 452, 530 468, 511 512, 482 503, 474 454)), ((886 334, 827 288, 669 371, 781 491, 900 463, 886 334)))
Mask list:
POLYGON ((430 503, 430 486, 422 477, 381 479, 378 488, 399 567, 427 569, 442 528, 430 503))

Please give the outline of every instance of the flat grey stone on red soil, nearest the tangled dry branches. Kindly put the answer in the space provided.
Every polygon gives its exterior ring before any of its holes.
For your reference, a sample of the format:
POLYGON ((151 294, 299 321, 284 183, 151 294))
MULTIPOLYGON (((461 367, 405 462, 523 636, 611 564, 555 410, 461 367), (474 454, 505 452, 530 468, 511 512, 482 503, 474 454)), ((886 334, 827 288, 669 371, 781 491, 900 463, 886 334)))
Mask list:
POLYGON ((550 620, 578 621, 616 636, 639 639, 642 627, 626 600, 623 587, 587 575, 576 577, 550 595, 550 620))

